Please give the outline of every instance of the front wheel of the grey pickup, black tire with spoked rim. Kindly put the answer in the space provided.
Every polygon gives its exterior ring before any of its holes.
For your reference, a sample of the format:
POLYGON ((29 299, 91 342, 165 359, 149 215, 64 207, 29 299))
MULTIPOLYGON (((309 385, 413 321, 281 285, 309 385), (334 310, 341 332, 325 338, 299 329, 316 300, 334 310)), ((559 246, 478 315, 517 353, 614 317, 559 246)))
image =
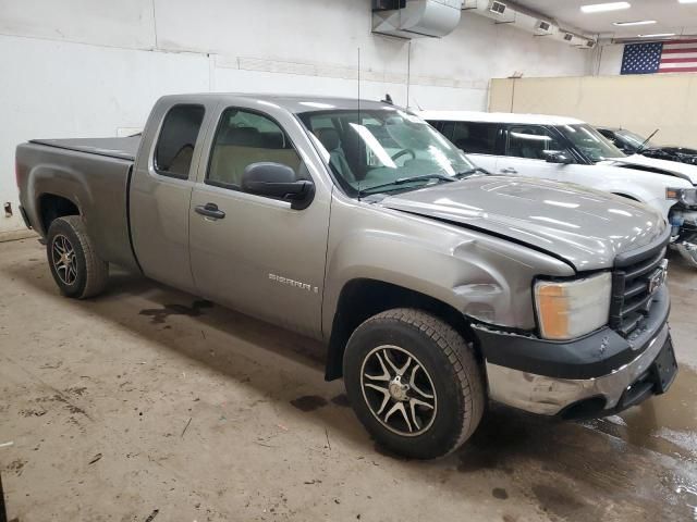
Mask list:
MULTIPOLYGON (((479 425, 485 409, 481 369, 472 346, 452 326, 435 315, 403 308, 388 310, 368 319, 348 339, 343 364, 346 394, 356 415, 378 444, 395 453, 416 459, 445 456, 463 445, 479 425), (396 351, 388 348, 390 351, 386 356, 381 351, 383 348, 380 348, 386 346, 392 346, 396 351), (398 383, 400 400, 382 391, 371 396, 372 388, 364 388, 364 384, 375 384, 375 375, 381 372, 380 353, 381 360, 387 361, 386 357, 393 358, 392 363, 388 361, 389 364, 398 362, 400 357, 400 363, 408 364, 411 357, 412 366, 423 366, 421 371, 416 371, 416 378, 420 378, 419 385, 409 388, 405 391, 406 395, 403 395, 398 383), (370 368, 372 370, 368 371, 370 368), (428 394, 425 391, 429 386, 435 391, 430 394, 435 398, 425 400, 432 402, 432 407, 419 408, 420 413, 415 417, 411 397, 426 397, 428 394), (417 394, 415 389, 419 388, 421 389, 417 394), (389 401, 388 405, 392 407, 386 407, 383 400, 389 401), (383 421, 378 420, 375 411, 381 405, 384 408, 382 412, 389 412, 392 408, 398 408, 394 405, 400 401, 405 401, 404 410, 396 410, 394 415, 404 411, 403 417, 396 415, 396 422, 392 418, 388 419, 386 426, 383 421), (401 428, 399 425, 395 427, 399 423, 402 424, 401 428), (407 433, 408 430, 414 431, 407 433)), ((406 370, 402 374, 409 373, 412 372, 406 370)), ((380 375, 380 378, 383 377, 384 374, 380 375)), ((377 384, 381 386, 380 382, 377 384)), ((390 384, 394 386, 394 377, 390 384)), ((384 413, 381 413, 381 418, 383 417, 384 413)))

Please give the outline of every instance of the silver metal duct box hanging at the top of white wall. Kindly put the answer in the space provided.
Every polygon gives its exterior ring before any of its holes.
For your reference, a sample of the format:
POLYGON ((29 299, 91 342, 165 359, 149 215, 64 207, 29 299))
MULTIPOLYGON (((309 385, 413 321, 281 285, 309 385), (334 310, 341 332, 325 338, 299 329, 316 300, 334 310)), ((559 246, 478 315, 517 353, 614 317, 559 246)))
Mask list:
POLYGON ((400 38, 442 38, 460 23, 462 0, 374 0, 372 32, 400 38))

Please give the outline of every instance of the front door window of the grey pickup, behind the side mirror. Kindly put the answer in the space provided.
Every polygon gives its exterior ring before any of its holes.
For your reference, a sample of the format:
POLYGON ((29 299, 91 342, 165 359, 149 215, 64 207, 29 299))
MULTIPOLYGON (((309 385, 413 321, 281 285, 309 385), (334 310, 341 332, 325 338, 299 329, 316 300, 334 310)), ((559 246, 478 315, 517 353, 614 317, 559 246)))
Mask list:
POLYGON ((298 175, 301 158, 283 129, 270 117, 243 109, 225 109, 210 152, 206 183, 240 189, 252 163, 281 163, 298 175))

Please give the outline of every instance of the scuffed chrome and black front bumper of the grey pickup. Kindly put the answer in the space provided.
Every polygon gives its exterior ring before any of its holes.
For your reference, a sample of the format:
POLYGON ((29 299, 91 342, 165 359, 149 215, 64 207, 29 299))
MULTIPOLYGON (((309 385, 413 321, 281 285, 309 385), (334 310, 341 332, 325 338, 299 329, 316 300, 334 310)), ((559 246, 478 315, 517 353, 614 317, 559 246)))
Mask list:
POLYGON ((641 331, 627 339, 610 328, 553 343, 476 327, 489 396, 531 413, 579 418, 608 415, 664 393, 677 370, 669 312, 662 287, 641 331))

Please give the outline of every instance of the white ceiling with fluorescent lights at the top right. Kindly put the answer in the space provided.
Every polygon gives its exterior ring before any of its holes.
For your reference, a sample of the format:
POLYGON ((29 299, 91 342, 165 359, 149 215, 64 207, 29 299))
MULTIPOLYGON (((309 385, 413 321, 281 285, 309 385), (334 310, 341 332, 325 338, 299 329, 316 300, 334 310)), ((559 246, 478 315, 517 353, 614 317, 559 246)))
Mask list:
POLYGON ((677 0, 627 0, 632 8, 622 11, 580 11, 582 5, 608 1, 610 0, 516 0, 515 3, 555 18, 561 25, 567 24, 602 38, 631 38, 639 34, 657 33, 697 35, 697 3, 682 4, 677 0), (612 25, 613 22, 640 20, 656 20, 657 23, 629 27, 612 25))

